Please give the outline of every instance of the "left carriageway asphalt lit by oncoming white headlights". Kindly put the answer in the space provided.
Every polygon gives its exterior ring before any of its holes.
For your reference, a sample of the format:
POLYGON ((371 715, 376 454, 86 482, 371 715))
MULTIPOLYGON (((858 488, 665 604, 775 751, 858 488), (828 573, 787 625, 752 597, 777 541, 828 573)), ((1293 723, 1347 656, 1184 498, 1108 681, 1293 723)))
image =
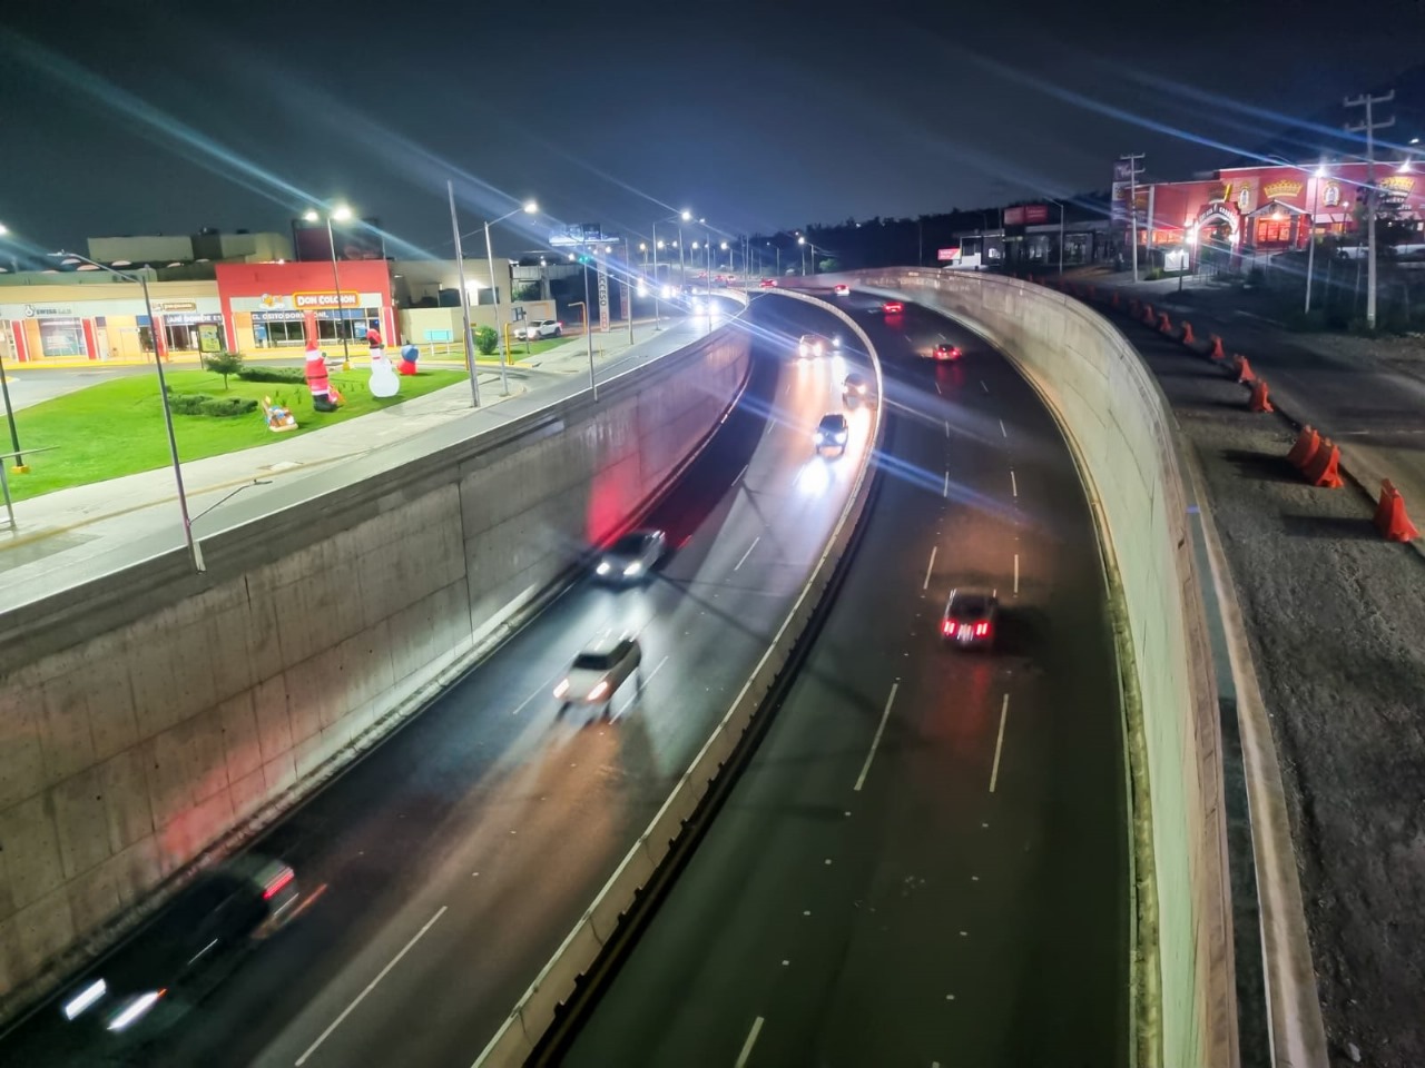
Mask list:
MULTIPOLYGON (((0 1062, 467 1068, 727 711, 844 506, 869 420, 845 457, 812 454, 839 384, 791 360, 785 316, 807 313, 767 310, 742 403, 650 517, 677 547, 656 581, 576 584, 268 832, 255 850, 296 870, 296 918, 198 1004, 170 998, 181 1015, 147 1047, 86 1045, 51 1002, 0 1062), (643 688, 611 723, 559 718, 554 682, 606 629, 638 631, 643 688)), ((142 953, 142 934, 120 950, 142 953)))

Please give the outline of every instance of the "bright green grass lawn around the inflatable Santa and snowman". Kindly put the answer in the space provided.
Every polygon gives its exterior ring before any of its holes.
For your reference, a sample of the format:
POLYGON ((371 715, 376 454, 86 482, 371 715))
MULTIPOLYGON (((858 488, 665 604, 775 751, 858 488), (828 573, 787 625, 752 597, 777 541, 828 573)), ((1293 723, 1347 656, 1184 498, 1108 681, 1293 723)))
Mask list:
MULTIPOLYGON (((368 377, 365 369, 333 372, 332 383, 341 390, 345 403, 336 412, 314 412, 312 394, 305 384, 229 377, 225 393, 221 375, 168 370, 167 379, 174 393, 252 397, 258 402, 266 396, 272 403, 289 407, 298 423, 296 430, 274 434, 266 429, 262 409, 231 419, 174 413, 178 456, 185 461, 201 460, 205 456, 284 441, 463 382, 466 375, 463 370, 422 370, 413 377, 402 376, 400 393, 389 400, 378 400, 370 394, 366 389, 368 377)), ((10 476, 10 490, 16 500, 168 464, 164 409, 152 375, 111 379, 46 400, 16 412, 14 420, 23 446, 53 446, 48 451, 26 453, 30 473, 10 476)))

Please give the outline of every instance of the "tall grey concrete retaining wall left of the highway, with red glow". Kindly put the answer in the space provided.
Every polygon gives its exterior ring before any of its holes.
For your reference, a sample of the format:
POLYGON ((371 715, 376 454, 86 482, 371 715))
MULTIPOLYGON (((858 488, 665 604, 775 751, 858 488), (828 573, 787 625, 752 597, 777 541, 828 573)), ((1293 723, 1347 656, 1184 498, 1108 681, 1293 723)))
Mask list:
POLYGON ((0 1015, 205 850, 329 778, 627 525, 738 396, 748 335, 294 500, 0 621, 0 1015), (433 451, 432 451, 433 450, 433 451))

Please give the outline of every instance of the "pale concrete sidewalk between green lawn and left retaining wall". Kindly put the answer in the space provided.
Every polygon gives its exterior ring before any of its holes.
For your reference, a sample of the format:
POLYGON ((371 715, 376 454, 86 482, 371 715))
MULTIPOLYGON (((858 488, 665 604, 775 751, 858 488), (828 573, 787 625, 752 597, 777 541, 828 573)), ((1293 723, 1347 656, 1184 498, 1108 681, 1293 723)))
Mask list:
MULTIPOLYGON (((594 335, 596 377, 623 375, 704 332, 691 320, 664 320, 658 332, 636 329, 633 346, 627 329, 594 335)), ((369 464, 356 463, 363 457, 395 457, 395 446, 405 456, 422 436, 445 441, 450 434, 476 434, 574 396, 589 387, 586 345, 579 337, 512 366, 507 397, 500 393, 500 372, 482 363, 479 409, 472 407, 469 382, 460 382, 301 437, 185 463, 194 534, 202 538, 248 521, 304 488, 329 490, 368 471, 369 464)), ((184 544, 170 467, 20 501, 14 515, 16 531, 0 527, 0 612, 184 544)))

